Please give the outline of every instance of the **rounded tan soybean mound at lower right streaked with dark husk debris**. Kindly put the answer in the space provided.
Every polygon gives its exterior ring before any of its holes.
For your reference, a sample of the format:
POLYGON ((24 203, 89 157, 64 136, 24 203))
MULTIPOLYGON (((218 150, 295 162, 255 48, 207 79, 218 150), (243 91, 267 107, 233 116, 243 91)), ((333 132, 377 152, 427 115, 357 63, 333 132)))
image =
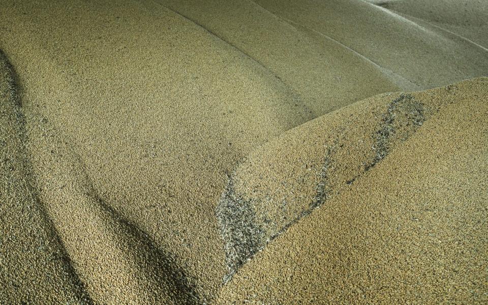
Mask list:
POLYGON ((255 150, 219 205, 220 303, 486 300, 487 97, 383 94, 255 150))

